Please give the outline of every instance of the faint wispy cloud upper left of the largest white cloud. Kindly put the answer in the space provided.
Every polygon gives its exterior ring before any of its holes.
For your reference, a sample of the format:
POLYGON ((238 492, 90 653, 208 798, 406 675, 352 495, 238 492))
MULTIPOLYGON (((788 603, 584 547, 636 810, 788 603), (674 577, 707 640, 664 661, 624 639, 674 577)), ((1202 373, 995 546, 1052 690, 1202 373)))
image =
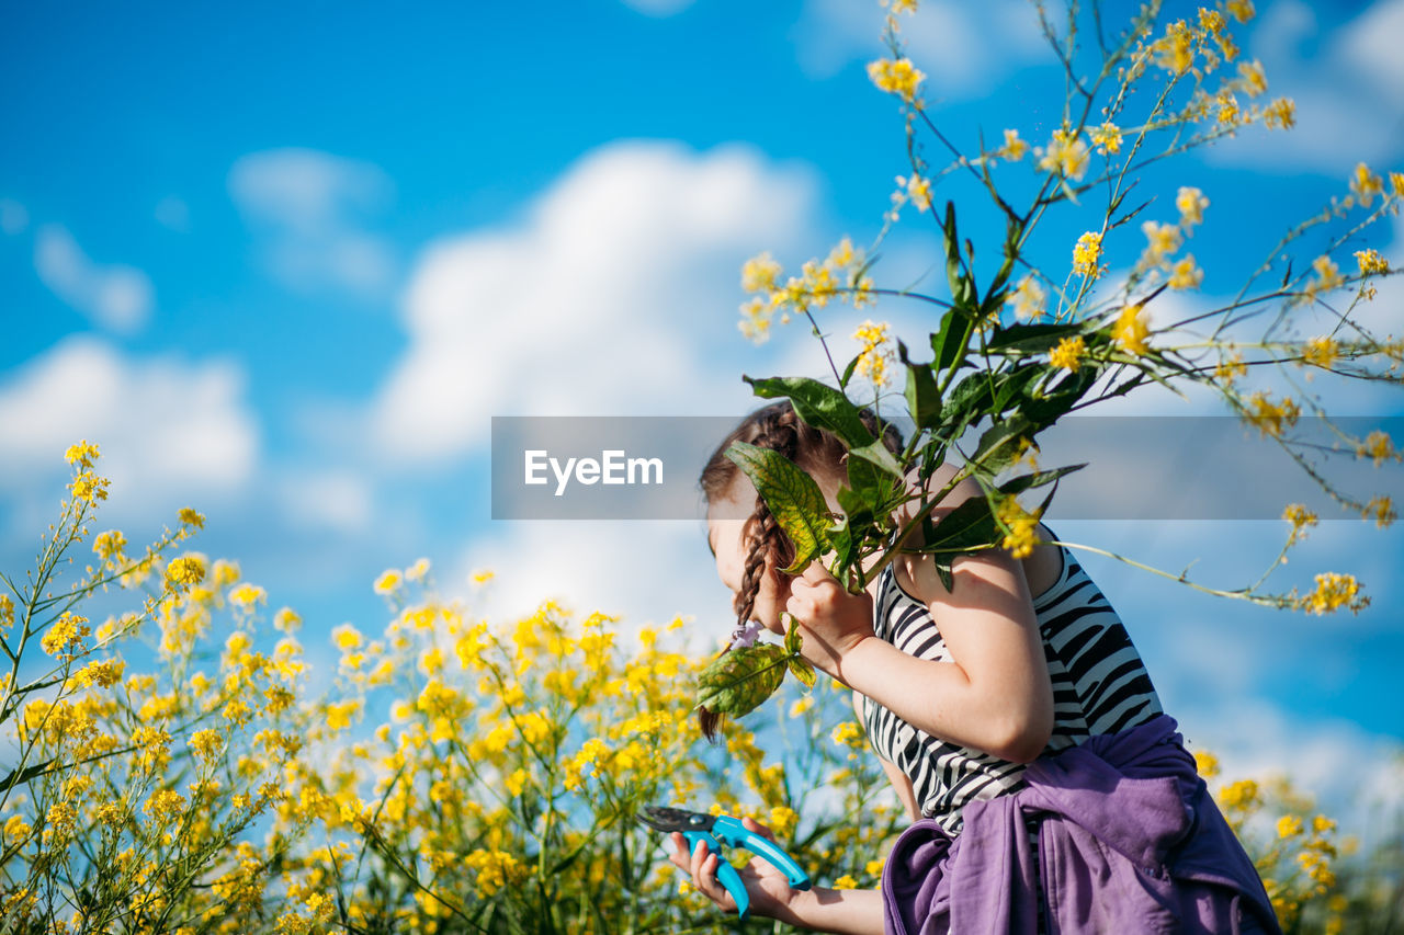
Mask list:
POLYGON ((395 251, 365 229, 395 195, 378 166, 310 149, 249 153, 229 171, 229 194, 258 233, 270 274, 288 288, 371 298, 390 288, 395 251))

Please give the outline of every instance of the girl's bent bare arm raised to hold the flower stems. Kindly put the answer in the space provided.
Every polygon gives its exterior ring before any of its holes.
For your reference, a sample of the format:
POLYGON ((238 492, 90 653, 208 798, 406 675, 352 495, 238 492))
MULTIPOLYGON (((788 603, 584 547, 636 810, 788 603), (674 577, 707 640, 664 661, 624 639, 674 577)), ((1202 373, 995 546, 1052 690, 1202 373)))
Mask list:
MULTIPOLYGON (((972 496, 983 496, 979 486, 962 482, 934 518, 972 496)), ((1036 758, 1053 731, 1053 685, 1021 563, 1002 549, 958 557, 951 591, 931 556, 899 563, 952 661, 873 636, 872 598, 849 595, 819 562, 790 583, 786 604, 802 623, 804 657, 928 734, 1014 762, 1036 758)))

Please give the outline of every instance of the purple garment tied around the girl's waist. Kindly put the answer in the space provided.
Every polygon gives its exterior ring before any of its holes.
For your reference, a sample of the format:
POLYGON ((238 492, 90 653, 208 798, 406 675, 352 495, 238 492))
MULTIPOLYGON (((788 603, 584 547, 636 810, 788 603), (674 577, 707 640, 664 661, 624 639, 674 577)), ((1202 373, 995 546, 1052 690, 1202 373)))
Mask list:
POLYGON ((1088 737, 1024 778, 1018 792, 967 803, 955 838, 931 818, 897 838, 882 877, 889 935, 1033 935, 1040 889, 1050 935, 1240 935, 1254 922, 1282 934, 1174 717, 1088 737))

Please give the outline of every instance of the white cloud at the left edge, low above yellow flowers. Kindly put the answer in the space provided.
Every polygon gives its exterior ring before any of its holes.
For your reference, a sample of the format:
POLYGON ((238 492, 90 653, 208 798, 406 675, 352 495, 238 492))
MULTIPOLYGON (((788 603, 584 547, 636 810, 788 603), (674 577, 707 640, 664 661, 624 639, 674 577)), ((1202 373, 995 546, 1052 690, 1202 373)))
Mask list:
POLYGON ((7 494, 17 505, 32 501, 28 494, 67 470, 63 452, 81 438, 100 446, 111 510, 126 515, 236 490, 258 458, 243 394, 243 371, 227 361, 132 359, 104 341, 67 337, 0 385, 7 494))

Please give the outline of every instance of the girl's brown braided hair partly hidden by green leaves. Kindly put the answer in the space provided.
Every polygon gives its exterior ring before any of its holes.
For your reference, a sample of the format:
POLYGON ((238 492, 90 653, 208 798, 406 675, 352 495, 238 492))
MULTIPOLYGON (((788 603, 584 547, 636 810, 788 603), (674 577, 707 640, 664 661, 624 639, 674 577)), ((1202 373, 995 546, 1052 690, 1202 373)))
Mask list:
MULTIPOLYGON (((894 455, 901 452, 901 432, 896 427, 880 423, 878 416, 868 409, 859 410, 859 416, 868 431, 875 438, 880 437, 889 451, 894 455)), ((702 476, 698 479, 702 496, 706 497, 709 504, 726 497, 731 484, 736 483, 741 473, 741 469, 726 456, 726 449, 734 441, 750 442, 776 451, 812 475, 842 472, 842 459, 848 453, 844 442, 835 435, 802 421, 790 402, 782 399, 755 410, 741 420, 722 439, 716 451, 712 452, 706 466, 702 469, 702 476)), ((765 505, 765 500, 760 496, 755 497, 755 510, 747 518, 741 536, 743 542, 750 542, 750 550, 741 571, 741 590, 737 591, 733 602, 739 626, 750 622, 764 576, 778 574, 776 569, 783 569, 795 560, 795 543, 781 529, 769 507, 765 505), (774 562, 774 564, 767 566, 767 559, 774 562)), ((727 650, 722 651, 726 653, 727 650)), ((720 722, 722 716, 716 712, 706 708, 699 709, 698 723, 708 740, 715 738, 720 722)))

